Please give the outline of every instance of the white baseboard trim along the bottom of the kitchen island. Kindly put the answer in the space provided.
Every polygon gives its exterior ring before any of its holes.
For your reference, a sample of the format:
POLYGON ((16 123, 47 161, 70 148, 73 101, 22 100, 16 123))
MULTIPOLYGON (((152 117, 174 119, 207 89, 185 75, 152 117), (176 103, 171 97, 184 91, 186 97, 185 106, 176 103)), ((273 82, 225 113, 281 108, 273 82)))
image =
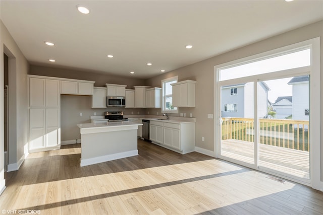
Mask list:
POLYGON ((128 158, 132 156, 138 155, 138 150, 132 150, 132 151, 127 151, 127 152, 121 152, 121 153, 116 153, 116 154, 111 154, 111 155, 104 155, 104 156, 99 156, 95 158, 88 158, 88 159, 82 159, 81 158, 81 163, 80 166, 88 166, 92 164, 98 164, 98 163, 103 163, 106 161, 113 161, 121 158, 128 158))

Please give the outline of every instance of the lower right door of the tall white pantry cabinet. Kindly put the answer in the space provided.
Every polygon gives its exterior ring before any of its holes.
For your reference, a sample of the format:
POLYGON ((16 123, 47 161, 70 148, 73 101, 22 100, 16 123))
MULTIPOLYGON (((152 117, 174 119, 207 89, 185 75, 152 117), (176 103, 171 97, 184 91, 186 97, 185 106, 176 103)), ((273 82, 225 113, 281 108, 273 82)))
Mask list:
POLYGON ((60 108, 46 108, 46 147, 54 147, 60 145, 60 108))

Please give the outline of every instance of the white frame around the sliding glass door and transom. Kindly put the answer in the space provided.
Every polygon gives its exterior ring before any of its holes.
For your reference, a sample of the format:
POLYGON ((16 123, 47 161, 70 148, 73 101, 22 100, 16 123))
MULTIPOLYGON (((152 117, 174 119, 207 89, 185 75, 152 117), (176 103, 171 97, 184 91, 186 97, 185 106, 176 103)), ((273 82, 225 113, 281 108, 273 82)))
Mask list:
MULTIPOLYGON (((306 66, 307 67, 307 66, 306 66)), ((294 68, 294 69, 287 69, 284 70, 284 73, 278 72, 273 72, 273 73, 267 73, 267 74, 262 74, 261 77, 259 75, 256 76, 249 76, 249 77, 243 77, 239 79, 233 79, 233 80, 227 80, 227 81, 221 81, 222 85, 225 84, 234 84, 234 83, 242 83, 243 81, 245 82, 252 82, 254 81, 255 84, 260 80, 264 79, 271 79, 270 77, 274 77, 273 79, 279 79, 279 78, 286 78, 287 76, 293 75, 293 76, 298 76, 298 75, 305 75, 308 74, 306 72, 306 69, 304 67, 300 68, 294 68), (280 74, 279 74, 280 73, 280 74)), ((239 163, 243 166, 247 166, 252 169, 260 170, 263 172, 267 172, 273 175, 277 175, 279 177, 283 177, 301 184, 309 185, 314 189, 321 190, 321 182, 320 182, 320 160, 321 160, 321 155, 320 155, 320 105, 315 105, 315 104, 321 104, 320 103, 320 38, 313 38, 310 40, 306 40, 303 42, 295 43, 292 45, 284 46, 278 49, 274 49, 271 51, 259 53, 256 55, 252 55, 249 57, 237 59, 234 61, 230 61, 227 63, 223 63, 220 65, 214 66, 214 99, 213 99, 213 114, 216 116, 213 121, 214 123, 214 157, 216 158, 221 158, 228 160, 233 163, 239 163), (314 143, 311 145, 310 148, 310 180, 308 181, 303 181, 303 180, 297 180, 295 178, 290 178, 287 175, 281 175, 277 174, 276 172, 270 172, 267 171, 266 169, 259 169, 257 167, 257 162, 255 161, 255 165, 250 165, 247 163, 243 162, 237 162, 234 159, 227 159, 224 158, 220 155, 220 150, 221 150, 221 89, 220 89, 220 79, 219 79, 219 71, 225 67, 232 67, 232 66, 237 66, 245 63, 250 63, 254 61, 258 61, 260 59, 265 59, 265 58, 271 58, 273 56, 278 56, 282 54, 287 54, 291 52, 295 52, 297 49, 302 49, 308 47, 311 50, 311 65, 309 66, 310 70, 310 98, 309 98, 309 106, 311 109, 311 114, 310 114, 310 127, 311 127, 311 132, 310 132, 310 139, 311 142, 314 143), (315 98, 315 99, 312 99, 315 98), (317 120, 319 119, 319 120, 317 120)), ((257 96, 256 92, 254 92, 254 105, 255 107, 257 106, 257 96)), ((254 108, 254 117, 257 116, 257 109, 254 108)), ((257 125, 255 125, 257 126, 257 125)), ((255 146, 255 156, 258 159, 258 147, 255 146)))

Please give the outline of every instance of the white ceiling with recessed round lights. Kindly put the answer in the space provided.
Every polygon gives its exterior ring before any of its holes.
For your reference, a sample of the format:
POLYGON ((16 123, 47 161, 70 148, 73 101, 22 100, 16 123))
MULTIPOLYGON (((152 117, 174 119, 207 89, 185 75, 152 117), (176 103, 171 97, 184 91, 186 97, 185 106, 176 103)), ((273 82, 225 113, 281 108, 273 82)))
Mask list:
POLYGON ((323 1, 2 0, 0 4, 1 20, 30 64, 140 79, 323 19, 323 1), (78 4, 87 6, 90 14, 79 13, 78 4), (187 44, 193 48, 186 49, 187 44), (57 61, 51 63, 49 58, 57 61))

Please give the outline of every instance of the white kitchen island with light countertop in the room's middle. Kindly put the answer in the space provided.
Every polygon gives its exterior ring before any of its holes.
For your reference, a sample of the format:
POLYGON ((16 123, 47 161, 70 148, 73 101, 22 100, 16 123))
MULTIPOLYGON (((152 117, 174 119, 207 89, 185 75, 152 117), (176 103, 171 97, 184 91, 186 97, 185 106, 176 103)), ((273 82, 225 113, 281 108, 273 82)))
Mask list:
POLYGON ((140 125, 129 121, 77 124, 81 133, 81 167, 138 155, 140 125))

